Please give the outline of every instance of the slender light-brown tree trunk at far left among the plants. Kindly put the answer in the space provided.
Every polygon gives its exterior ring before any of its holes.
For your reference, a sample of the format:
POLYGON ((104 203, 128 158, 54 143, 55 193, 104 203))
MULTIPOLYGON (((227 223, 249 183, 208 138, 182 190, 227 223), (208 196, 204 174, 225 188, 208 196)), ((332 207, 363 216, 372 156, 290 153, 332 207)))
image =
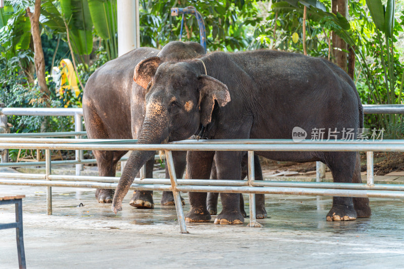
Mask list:
POLYGON ((50 96, 45 80, 45 60, 43 57, 41 33, 39 30, 39 15, 41 12, 41 0, 35 0, 34 13, 27 8, 27 14, 31 22, 31 34, 34 41, 34 62, 38 85, 44 95, 50 96))

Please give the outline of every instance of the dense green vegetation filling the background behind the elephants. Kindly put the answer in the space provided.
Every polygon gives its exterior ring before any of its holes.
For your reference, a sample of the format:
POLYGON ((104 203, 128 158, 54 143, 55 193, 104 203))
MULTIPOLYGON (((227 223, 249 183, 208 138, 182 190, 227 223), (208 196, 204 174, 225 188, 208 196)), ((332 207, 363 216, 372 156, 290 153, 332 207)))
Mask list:
MULTIPOLYGON (((7 106, 81 106, 82 93, 76 96, 68 90, 59 92, 51 70, 60 60, 74 58, 80 82, 85 85, 96 68, 117 57, 116 0, 41 2, 39 24, 49 96, 35 86, 33 41, 26 12, 28 7, 32 9, 33 2, 5 1, 5 8, 0 9, 0 100, 7 106)), ((362 102, 402 102, 402 2, 394 5, 393 0, 349 0, 346 19, 331 12, 330 0, 140 0, 139 5, 142 46, 161 48, 179 39, 181 17, 172 17, 171 7, 194 6, 203 15, 208 51, 271 48, 303 53, 306 43, 308 55, 333 61, 334 31, 355 52, 352 74, 362 102), (306 39, 302 33, 305 6, 306 39)), ((199 40, 193 17, 186 17, 182 40, 199 40)), ((368 127, 387 128, 390 137, 395 138, 404 133, 402 121, 398 115, 366 117, 368 127)), ((70 119, 56 117, 14 117, 9 122, 12 132, 62 131, 72 127, 70 119)))

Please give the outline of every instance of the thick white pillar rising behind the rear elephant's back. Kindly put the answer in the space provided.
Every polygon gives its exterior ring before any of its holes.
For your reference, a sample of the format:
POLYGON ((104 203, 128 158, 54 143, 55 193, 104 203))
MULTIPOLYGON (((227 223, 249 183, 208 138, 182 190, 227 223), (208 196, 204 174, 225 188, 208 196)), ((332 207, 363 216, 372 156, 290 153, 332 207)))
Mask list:
POLYGON ((139 27, 139 13, 136 8, 139 7, 138 0, 118 0, 117 1, 117 20, 118 20, 118 56, 136 48, 140 40, 136 40, 139 27), (136 25, 137 22, 137 25, 136 25), (136 27, 137 26, 137 27, 136 27))

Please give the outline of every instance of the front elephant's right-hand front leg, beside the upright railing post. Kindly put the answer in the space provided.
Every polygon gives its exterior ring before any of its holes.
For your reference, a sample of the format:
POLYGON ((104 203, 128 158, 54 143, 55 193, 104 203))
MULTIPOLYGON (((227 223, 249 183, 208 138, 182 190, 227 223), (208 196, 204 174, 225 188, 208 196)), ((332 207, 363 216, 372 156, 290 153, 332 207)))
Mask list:
MULTIPOLYGON (((215 156, 219 180, 240 180, 241 152, 218 151, 215 156)), ((223 209, 215 219, 215 224, 242 224, 244 218, 240 210, 239 193, 221 193, 223 209)))

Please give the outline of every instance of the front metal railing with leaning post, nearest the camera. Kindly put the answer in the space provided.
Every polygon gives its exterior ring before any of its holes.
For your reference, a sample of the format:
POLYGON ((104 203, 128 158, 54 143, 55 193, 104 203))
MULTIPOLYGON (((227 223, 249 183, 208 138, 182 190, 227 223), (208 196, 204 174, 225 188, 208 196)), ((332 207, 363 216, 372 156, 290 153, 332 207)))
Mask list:
POLYGON ((115 189, 119 178, 116 177, 90 177, 90 176, 59 176, 51 174, 50 150, 164 150, 166 152, 167 167, 170 179, 135 178, 131 185, 132 190, 159 190, 173 191, 178 221, 181 233, 186 233, 184 214, 179 192, 224 192, 247 193, 249 195, 250 223, 249 226, 260 226, 255 214, 255 193, 262 194, 296 194, 296 195, 322 195, 344 197, 384 197, 404 198, 404 185, 374 184, 373 177, 373 151, 404 151, 404 140, 371 141, 301 141, 293 142, 285 139, 237 139, 237 140, 184 140, 170 144, 129 144, 128 140, 120 143, 118 140, 96 140, 87 143, 77 143, 87 139, 47 139, 45 143, 34 143, 32 139, 15 138, 5 141, 2 139, 0 148, 32 148, 45 149, 45 174, 15 174, 0 173, 3 178, 0 184, 29 185, 47 187, 47 212, 52 214, 52 187, 75 188, 103 188, 115 189), (175 176, 172 150, 204 150, 204 151, 247 151, 248 152, 248 180, 203 180, 178 179, 175 176), (327 182, 282 182, 282 181, 256 181, 254 175, 254 151, 367 151, 367 183, 327 183, 327 182))

